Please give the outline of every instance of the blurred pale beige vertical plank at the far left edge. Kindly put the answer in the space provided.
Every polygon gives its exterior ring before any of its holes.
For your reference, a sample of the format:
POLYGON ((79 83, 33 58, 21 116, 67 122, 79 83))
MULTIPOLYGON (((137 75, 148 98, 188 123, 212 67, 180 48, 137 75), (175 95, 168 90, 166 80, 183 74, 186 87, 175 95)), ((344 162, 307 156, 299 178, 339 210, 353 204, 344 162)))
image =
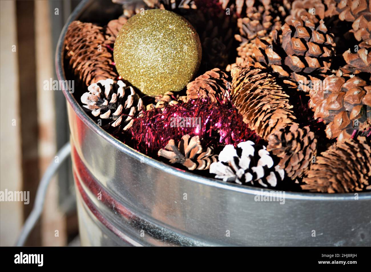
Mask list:
MULTIPOLYGON (((22 190, 15 1, 0 1, 0 33, 0 191, 14 192, 22 190)), ((1 202, 0 246, 15 244, 23 206, 22 202, 1 202)))

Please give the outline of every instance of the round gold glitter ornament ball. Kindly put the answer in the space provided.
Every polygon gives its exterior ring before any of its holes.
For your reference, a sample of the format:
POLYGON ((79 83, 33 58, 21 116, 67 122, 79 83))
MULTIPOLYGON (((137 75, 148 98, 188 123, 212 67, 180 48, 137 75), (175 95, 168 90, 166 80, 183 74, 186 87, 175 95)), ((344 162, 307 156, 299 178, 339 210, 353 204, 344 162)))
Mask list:
POLYGON ((182 90, 197 73, 201 55, 200 38, 192 25, 161 9, 131 17, 114 46, 119 75, 147 95, 182 90))

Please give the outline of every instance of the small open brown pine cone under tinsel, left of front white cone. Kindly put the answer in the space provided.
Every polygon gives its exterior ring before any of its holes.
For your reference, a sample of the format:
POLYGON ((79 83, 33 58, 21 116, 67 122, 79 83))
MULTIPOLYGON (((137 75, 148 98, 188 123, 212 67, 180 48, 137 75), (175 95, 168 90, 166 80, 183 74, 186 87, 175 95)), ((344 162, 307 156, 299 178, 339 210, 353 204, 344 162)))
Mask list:
POLYGON ((191 137, 188 134, 178 144, 171 139, 165 148, 158 151, 158 156, 169 159, 171 164, 182 164, 191 171, 209 169, 211 162, 217 161, 213 147, 203 147, 199 136, 191 137))

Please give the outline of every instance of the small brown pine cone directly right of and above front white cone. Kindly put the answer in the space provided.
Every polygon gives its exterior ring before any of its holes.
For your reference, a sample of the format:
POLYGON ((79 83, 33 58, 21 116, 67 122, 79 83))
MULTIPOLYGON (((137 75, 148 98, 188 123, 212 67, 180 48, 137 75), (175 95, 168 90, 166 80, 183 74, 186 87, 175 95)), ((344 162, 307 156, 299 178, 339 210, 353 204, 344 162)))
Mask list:
POLYGON ((303 177, 317 155, 317 140, 309 127, 298 124, 281 128, 268 137, 268 151, 280 158, 279 166, 292 180, 303 177))

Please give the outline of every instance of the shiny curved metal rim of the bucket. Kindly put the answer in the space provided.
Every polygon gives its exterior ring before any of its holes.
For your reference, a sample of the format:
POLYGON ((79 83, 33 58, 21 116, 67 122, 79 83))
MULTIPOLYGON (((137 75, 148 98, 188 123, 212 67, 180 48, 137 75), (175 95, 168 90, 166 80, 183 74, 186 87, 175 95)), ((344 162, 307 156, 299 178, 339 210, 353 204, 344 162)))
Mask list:
MULTIPOLYGON (((64 66, 63 66, 63 41, 67 32, 67 28, 69 24, 78 18, 78 16, 82 13, 83 8, 85 5, 94 0, 82 0, 78 6, 75 8, 75 10, 70 14, 68 17, 68 20, 66 21, 65 26, 62 29, 62 32, 60 33, 56 53, 55 53, 55 66, 56 66, 56 73, 58 80, 66 80, 65 78, 65 72, 64 72, 64 66)), ((62 84, 63 85, 63 84, 62 84)), ((232 191, 237 192, 243 192, 246 194, 253 194, 253 195, 262 195, 263 192, 272 192, 272 191, 278 191, 275 189, 265 189, 265 188, 259 188, 259 187, 252 187, 247 185, 239 185, 239 184, 232 184, 220 181, 218 179, 213 178, 206 178, 202 177, 201 175, 197 175, 188 171, 184 171, 181 169, 178 169, 176 167, 173 167, 171 165, 165 164, 164 162, 160 162, 156 159, 153 159, 151 157, 148 157, 147 155, 142 154, 141 152, 134 150, 133 148, 129 147, 128 145, 124 144, 123 142, 117 140, 114 138, 111 134, 103 130, 103 128, 99 127, 89 116, 86 114, 86 112, 82 109, 82 107, 79 105, 79 103, 76 101, 75 97, 71 93, 69 93, 68 90, 65 90, 63 88, 63 94, 66 97, 66 100, 70 103, 71 107, 75 111, 76 115, 96 134, 98 134, 100 137, 104 138, 107 142, 114 145, 116 149, 119 151, 128 154, 129 156, 143 161, 143 163, 146 163, 148 165, 151 165, 152 167, 161 169, 162 171, 178 175, 182 178, 188 179, 190 181, 194 181, 197 183, 201 183, 208 186, 213 187, 219 187, 223 189, 228 189, 232 191)), ((369 200, 371 199, 371 193, 370 192, 357 192, 358 193, 358 199, 359 200, 369 200)), ((323 194, 323 193, 312 193, 312 192, 291 192, 291 191, 285 191, 285 198, 288 199, 306 199, 306 200, 330 200, 330 201, 338 201, 338 200, 350 200, 354 199, 355 192, 352 193, 344 193, 344 194, 323 194)))

